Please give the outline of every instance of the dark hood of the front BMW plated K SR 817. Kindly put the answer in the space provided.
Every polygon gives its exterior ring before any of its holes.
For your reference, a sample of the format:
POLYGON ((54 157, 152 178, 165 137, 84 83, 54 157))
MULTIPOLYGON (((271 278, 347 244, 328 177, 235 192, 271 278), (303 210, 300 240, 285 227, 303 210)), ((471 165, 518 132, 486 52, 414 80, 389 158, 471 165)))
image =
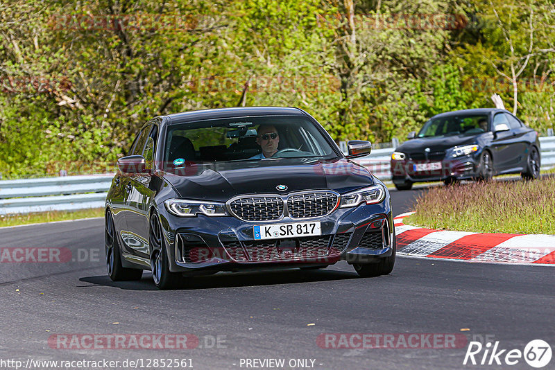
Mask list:
POLYGON ((374 184, 373 176, 366 168, 347 159, 195 164, 184 171, 182 175, 164 173, 179 197, 219 202, 241 194, 287 194, 311 189, 332 189, 346 193, 374 184), (278 191, 278 185, 287 186, 287 190, 278 191))

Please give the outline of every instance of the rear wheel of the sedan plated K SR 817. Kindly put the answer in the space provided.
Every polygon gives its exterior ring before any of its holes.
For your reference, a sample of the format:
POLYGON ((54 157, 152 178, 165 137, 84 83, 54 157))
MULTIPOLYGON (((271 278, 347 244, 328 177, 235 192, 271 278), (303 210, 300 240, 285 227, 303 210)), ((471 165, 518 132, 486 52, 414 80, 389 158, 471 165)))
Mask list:
POLYGON ((121 252, 119 251, 116 228, 114 227, 114 218, 110 211, 106 213, 104 222, 106 270, 108 270, 108 276, 110 276, 112 281, 140 280, 143 270, 130 269, 121 265, 121 252))

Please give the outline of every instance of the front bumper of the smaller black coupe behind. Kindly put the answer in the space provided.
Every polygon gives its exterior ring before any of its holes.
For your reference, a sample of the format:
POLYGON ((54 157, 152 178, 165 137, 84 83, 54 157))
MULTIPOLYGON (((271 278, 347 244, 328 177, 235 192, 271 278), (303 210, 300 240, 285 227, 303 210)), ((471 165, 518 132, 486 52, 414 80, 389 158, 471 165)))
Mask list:
POLYGON ((413 161, 413 160, 391 160, 392 181, 395 184, 406 184, 407 182, 432 182, 443 181, 449 178, 459 180, 475 179, 480 173, 479 155, 465 155, 442 161, 413 161), (416 170, 418 164, 441 163, 441 169, 416 170))

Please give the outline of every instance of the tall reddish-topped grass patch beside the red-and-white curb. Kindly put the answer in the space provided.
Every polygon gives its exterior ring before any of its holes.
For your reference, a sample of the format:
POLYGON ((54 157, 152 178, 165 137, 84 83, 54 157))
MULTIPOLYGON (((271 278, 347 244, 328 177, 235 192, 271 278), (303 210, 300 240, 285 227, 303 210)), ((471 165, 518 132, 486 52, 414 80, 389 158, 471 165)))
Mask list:
POLYGON ((555 177, 439 186, 422 193, 404 219, 430 229, 555 234, 555 177))

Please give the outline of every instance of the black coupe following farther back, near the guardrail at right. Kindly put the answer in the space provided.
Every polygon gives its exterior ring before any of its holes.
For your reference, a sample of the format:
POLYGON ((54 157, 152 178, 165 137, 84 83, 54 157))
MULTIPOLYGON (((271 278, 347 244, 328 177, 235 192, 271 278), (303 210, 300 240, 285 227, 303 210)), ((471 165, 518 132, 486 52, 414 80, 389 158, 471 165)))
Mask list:
POLYGON ((391 156, 393 184, 489 180, 493 175, 540 173, 538 133, 504 109, 466 109, 437 114, 409 134, 391 156))

